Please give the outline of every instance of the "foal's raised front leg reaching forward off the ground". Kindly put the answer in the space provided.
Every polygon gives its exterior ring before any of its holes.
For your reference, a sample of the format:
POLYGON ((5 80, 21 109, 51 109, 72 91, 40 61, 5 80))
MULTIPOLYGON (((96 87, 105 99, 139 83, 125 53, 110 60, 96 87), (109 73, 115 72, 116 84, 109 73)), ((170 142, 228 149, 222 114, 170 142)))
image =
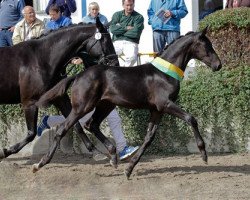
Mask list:
POLYGON ((197 123, 196 119, 192 115, 190 115, 189 113, 184 111, 183 109, 179 108, 173 102, 169 102, 168 105, 165 107, 164 111, 170 115, 176 116, 176 117, 184 120, 192 127, 197 146, 198 146, 198 148, 201 152, 201 155, 202 155, 202 160, 205 163, 207 163, 207 152, 205 149, 205 142, 200 135, 200 132, 198 129, 198 123, 197 123))

